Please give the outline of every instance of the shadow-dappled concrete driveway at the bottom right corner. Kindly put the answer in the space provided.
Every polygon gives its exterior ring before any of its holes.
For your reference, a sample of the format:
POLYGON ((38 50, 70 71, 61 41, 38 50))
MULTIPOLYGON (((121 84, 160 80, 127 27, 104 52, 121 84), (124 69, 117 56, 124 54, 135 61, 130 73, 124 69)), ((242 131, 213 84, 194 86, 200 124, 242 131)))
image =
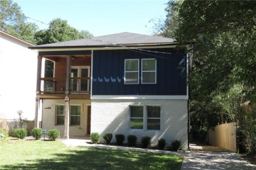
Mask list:
POLYGON ((184 169, 256 169, 238 154, 228 152, 187 151, 181 170, 184 169))

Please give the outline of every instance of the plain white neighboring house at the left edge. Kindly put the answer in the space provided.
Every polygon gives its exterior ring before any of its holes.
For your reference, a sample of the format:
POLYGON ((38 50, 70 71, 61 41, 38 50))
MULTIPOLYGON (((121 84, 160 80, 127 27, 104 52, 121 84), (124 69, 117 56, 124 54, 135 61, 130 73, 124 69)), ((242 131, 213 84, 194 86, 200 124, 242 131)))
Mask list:
POLYGON ((0 30, 0 117, 33 120, 35 114, 35 86, 37 51, 32 43, 0 30))

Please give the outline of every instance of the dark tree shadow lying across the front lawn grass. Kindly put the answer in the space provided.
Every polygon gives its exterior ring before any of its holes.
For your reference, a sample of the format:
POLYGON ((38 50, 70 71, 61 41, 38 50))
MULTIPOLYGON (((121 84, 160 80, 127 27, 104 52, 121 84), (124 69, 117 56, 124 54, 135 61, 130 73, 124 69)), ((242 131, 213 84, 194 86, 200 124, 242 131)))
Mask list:
POLYGON ((26 160, 18 165, 3 165, 4 169, 181 169, 181 156, 77 147, 51 158, 26 160))

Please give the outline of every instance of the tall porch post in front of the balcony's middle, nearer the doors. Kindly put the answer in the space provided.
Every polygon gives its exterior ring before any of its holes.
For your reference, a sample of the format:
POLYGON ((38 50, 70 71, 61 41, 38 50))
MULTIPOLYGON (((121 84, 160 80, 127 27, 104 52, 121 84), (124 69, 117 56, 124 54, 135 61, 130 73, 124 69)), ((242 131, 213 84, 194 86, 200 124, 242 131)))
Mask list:
POLYGON ((64 121, 64 139, 70 138, 70 59, 68 56, 66 59, 66 91, 65 91, 65 121, 64 121))

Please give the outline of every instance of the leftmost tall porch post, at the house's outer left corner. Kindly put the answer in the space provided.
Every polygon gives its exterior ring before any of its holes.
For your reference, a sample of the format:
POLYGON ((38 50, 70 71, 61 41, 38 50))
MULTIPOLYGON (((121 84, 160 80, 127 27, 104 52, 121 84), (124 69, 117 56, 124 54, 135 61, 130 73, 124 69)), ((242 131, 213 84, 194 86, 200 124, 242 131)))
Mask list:
POLYGON ((35 97, 35 127, 39 127, 38 112, 40 107, 40 87, 41 87, 41 69, 42 69, 42 56, 37 56, 37 87, 36 87, 36 97, 35 97))

